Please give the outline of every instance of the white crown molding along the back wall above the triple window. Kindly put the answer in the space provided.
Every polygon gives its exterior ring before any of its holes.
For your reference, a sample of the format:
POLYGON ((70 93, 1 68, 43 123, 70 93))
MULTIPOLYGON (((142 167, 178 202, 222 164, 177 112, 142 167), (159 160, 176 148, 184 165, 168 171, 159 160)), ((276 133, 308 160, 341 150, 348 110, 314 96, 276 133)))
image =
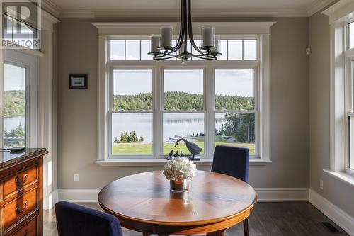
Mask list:
MULTIPOLYGON (((305 9, 193 9, 193 17, 307 17, 305 9)), ((60 18, 180 17, 178 9, 63 10, 60 18)))

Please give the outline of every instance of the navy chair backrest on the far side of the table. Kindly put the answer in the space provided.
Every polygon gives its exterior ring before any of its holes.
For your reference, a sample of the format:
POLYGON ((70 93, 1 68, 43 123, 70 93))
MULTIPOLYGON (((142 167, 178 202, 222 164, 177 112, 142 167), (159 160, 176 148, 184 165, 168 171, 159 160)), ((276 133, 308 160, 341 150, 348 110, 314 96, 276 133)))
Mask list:
POLYGON ((249 181, 249 150, 241 147, 215 147, 212 172, 249 181))

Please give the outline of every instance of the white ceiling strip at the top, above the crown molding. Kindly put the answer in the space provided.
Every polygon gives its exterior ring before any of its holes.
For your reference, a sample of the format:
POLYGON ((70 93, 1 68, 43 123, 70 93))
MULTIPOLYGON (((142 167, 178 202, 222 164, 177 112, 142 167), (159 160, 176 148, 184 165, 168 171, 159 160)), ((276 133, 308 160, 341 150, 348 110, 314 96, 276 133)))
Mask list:
MULTIPOLYGON (((176 9, 179 0, 52 0, 72 9, 176 9)), ((195 9, 306 9, 315 0, 192 0, 195 9)))

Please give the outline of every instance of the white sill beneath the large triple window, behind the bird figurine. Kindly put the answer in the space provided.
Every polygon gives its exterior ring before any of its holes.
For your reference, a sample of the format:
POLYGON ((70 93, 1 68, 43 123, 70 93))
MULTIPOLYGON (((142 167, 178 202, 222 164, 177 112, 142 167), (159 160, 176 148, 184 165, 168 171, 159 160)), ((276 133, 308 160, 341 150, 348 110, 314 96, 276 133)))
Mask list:
MULTIPOLYGON (((101 167, 163 167, 166 159, 109 159, 97 161, 101 167)), ((272 162, 270 159, 250 159, 251 166, 263 166, 272 162)), ((212 159, 201 159, 194 162, 197 166, 211 166, 212 159)))

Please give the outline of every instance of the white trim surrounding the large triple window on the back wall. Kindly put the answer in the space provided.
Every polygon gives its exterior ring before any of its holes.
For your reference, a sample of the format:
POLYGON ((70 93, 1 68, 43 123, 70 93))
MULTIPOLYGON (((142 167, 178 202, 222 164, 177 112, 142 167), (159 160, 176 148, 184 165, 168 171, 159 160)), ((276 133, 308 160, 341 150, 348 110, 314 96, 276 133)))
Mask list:
MULTIPOLYGON (((275 22, 234 22, 234 23, 194 23, 193 27, 197 28, 205 24, 210 24, 216 26, 218 33, 220 35, 257 35, 259 38, 260 45, 258 47, 258 57, 259 66, 258 66, 258 91, 260 98, 258 116, 260 116, 259 124, 259 158, 253 159, 251 163, 268 163, 270 162, 269 154, 269 77, 270 77, 270 26, 273 26, 275 22)), ((108 91, 109 88, 109 72, 111 66, 123 67, 125 65, 131 64, 129 61, 117 61, 108 63, 108 44, 107 40, 110 38, 120 38, 124 35, 127 38, 139 38, 139 35, 149 35, 152 33, 159 33, 159 27, 163 25, 171 25, 175 28, 178 28, 179 23, 92 23, 96 28, 98 28, 98 157, 97 163, 101 165, 130 165, 130 162, 134 162, 137 165, 155 165, 156 162, 161 162, 161 159, 108 159, 108 101, 110 99, 108 91), (145 163, 145 164, 143 164, 145 163), (155 163, 155 164, 151 164, 155 163)), ((178 29, 177 29, 178 30, 178 29)), ((197 29, 196 29, 197 30, 197 29)), ((197 31, 195 31, 197 32, 197 31)), ((134 62, 134 61, 133 61, 134 62)), ((155 65, 156 62, 151 61, 152 65, 155 65)), ((169 66, 169 61, 158 62, 164 64, 164 66, 169 66)), ((176 66, 174 62, 172 65, 176 66)), ((200 64, 210 63, 204 61, 194 61, 193 66, 198 66, 200 64)), ((219 61, 219 64, 215 64, 216 67, 225 67, 229 65, 232 69, 232 61, 219 61)), ((246 67, 250 67, 251 62, 243 62, 246 67)), ((137 63, 135 62, 135 65, 137 63)), ((144 64, 148 64, 144 62, 144 64)), ((253 62, 254 64, 254 62, 253 62)), ((188 65, 187 65, 188 66, 188 65)), ((156 73, 159 73, 156 70, 156 73)), ((210 73, 210 72, 206 72, 210 73)), ((161 85, 157 85, 161 86, 161 85)), ((210 88, 207 88, 207 93, 211 92, 210 88)), ((157 122, 154 121, 154 122, 157 122)), ((208 124, 205 124, 206 126, 208 124)), ((156 145, 159 146, 159 145, 156 145)), ((211 149, 212 147, 210 147, 211 149)), ((154 150, 156 151, 156 150, 154 150)), ((205 152, 210 152, 211 150, 205 150, 205 152)), ((155 152, 156 153, 156 152, 155 152)), ((164 162, 164 160, 162 160, 164 162)), ((210 164, 212 159, 204 159, 203 163, 210 164)), ((202 163, 202 162, 200 162, 202 163)))

